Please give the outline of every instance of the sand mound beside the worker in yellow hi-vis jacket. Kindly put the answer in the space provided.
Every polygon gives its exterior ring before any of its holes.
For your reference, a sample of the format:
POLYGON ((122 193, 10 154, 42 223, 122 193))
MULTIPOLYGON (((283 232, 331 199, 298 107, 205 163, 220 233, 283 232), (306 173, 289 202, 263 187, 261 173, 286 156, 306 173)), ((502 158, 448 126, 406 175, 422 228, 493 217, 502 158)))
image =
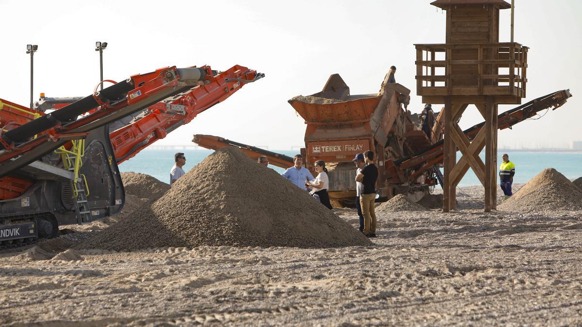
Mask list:
POLYGON ((498 205, 504 211, 578 210, 582 191, 556 169, 546 168, 508 200, 498 205))

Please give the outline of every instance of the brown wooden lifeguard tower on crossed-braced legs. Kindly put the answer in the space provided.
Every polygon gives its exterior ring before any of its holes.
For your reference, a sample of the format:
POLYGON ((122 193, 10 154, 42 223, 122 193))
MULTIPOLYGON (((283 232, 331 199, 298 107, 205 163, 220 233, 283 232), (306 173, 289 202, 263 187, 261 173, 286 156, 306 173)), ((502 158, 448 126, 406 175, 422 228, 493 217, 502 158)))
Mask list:
POLYGON ((497 106, 526 97, 527 47, 499 42, 503 0, 437 0, 446 10, 446 43, 416 45, 417 94, 424 103, 444 104, 443 211, 455 209, 456 186, 469 168, 485 187, 485 212, 496 209, 497 106), (459 120, 474 105, 485 126, 473 139, 459 120), (485 147, 485 163, 479 157, 485 147), (457 162, 457 149, 462 157, 457 162))

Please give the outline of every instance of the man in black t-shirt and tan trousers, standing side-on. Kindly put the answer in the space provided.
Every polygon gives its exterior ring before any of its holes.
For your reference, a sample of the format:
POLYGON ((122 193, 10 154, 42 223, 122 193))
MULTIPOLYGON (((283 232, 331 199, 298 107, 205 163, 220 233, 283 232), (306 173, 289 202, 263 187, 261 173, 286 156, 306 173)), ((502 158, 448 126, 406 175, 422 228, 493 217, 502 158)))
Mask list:
POLYGON ((360 196, 360 206, 364 215, 364 231, 367 237, 376 237, 376 212, 374 202, 376 200, 376 180, 378 179, 378 168, 374 165, 374 152, 365 151, 364 169, 356 176, 356 182, 364 184, 364 190, 360 196))

